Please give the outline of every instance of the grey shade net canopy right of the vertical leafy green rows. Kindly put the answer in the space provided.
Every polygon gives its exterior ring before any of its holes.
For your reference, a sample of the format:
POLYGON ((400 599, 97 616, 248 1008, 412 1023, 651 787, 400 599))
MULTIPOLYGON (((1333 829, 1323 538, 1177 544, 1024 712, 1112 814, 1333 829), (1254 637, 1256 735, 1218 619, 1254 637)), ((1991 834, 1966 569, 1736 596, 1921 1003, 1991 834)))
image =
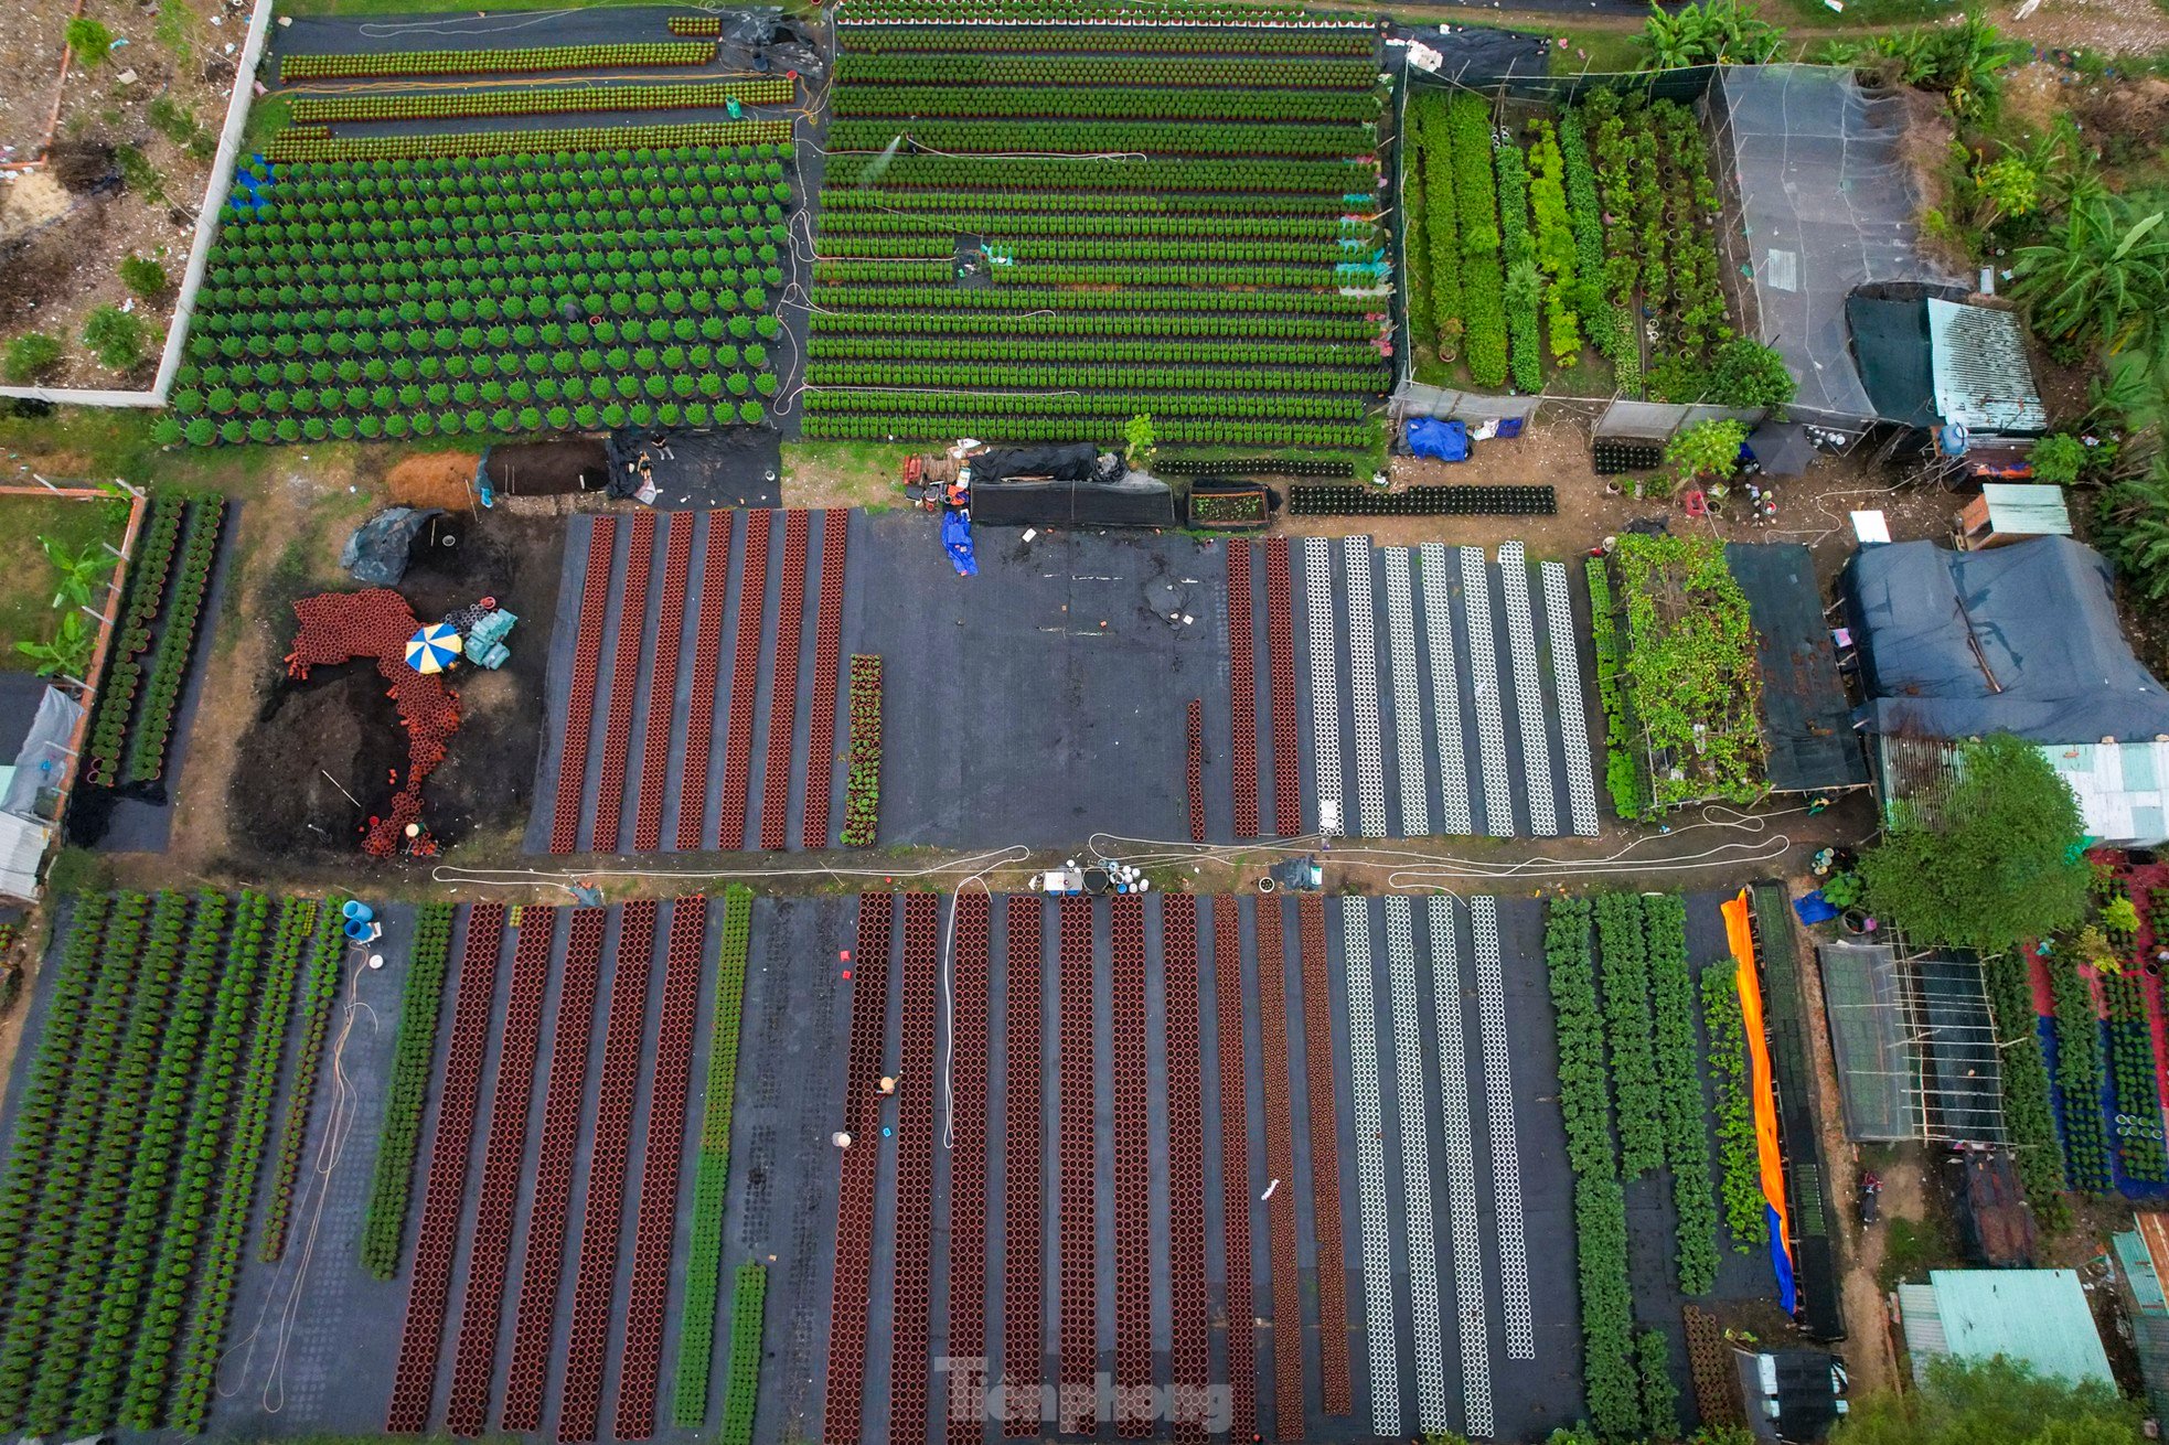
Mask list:
POLYGON ((1874 421, 1846 297, 1872 284, 1956 284, 1920 250, 1904 100, 1861 89, 1850 67, 1727 65, 1709 106, 1733 282, 1755 336, 1800 382, 1792 410, 1874 421))

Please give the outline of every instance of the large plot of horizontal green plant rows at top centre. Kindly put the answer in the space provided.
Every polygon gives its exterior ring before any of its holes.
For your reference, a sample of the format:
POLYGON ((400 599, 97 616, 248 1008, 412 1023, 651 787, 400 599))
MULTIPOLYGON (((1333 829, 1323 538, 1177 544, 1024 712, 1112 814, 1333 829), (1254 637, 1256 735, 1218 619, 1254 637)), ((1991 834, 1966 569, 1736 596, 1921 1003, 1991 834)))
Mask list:
POLYGON ((1117 440, 1143 412, 1163 445, 1364 445, 1371 30, 883 15, 842 30, 809 436, 1117 440))

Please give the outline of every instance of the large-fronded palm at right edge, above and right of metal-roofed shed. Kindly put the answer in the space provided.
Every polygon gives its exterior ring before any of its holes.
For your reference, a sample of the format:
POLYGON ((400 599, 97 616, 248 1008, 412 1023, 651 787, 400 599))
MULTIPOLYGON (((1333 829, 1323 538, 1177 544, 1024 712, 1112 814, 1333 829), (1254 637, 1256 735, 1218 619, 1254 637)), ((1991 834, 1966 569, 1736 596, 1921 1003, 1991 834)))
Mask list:
POLYGON ((2123 197, 2071 206, 2063 232, 2017 254, 2011 295, 2052 338, 2152 354, 2169 338, 2169 228, 2123 197))

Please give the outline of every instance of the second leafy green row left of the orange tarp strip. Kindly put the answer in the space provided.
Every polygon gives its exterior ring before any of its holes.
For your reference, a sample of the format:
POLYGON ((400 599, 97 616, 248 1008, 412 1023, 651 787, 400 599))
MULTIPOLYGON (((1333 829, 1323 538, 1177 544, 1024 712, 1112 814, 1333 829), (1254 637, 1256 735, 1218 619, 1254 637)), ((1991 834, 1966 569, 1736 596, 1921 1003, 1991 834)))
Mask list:
POLYGON ((1718 1198, 1709 1178, 1700 1041, 1694 1031, 1694 972, 1687 968, 1687 905, 1646 894, 1648 1000, 1655 1015, 1657 1087, 1664 1107, 1664 1165, 1672 1174, 1679 1293, 1707 1295, 1718 1282, 1718 1198))

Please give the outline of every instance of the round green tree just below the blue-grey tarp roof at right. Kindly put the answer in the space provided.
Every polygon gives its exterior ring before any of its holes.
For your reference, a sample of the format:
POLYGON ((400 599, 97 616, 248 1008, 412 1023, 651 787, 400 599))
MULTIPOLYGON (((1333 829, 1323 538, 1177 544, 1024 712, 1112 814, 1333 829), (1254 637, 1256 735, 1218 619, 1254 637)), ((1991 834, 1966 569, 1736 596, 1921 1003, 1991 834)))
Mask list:
POLYGON ((1900 801, 1861 857, 1868 905, 1915 944, 2011 948, 2084 918, 2082 831, 2078 798, 2030 742, 1963 742, 1948 792, 1900 801))

